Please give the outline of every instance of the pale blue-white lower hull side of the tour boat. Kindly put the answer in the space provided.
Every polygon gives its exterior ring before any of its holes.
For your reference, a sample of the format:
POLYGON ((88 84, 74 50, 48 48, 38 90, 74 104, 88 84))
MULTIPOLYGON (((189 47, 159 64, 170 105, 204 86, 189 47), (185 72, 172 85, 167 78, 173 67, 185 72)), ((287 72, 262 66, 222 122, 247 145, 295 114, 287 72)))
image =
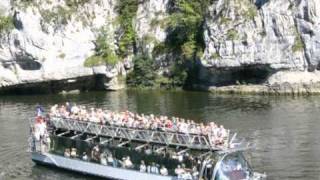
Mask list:
POLYGON ((176 177, 161 176, 150 173, 142 173, 135 170, 114 168, 110 166, 104 166, 101 164, 81 161, 78 159, 66 158, 50 153, 38 153, 32 152, 32 160, 39 164, 51 165, 58 168, 80 172, 83 174, 89 174, 93 176, 99 176, 111 179, 122 180, 175 180, 176 177))

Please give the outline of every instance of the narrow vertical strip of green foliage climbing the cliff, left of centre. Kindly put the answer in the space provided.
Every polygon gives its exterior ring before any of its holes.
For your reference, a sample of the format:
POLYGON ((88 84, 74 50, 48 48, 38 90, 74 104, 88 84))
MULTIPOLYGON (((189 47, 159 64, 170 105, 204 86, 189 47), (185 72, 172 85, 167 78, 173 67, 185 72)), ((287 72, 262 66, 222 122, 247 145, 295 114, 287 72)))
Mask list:
POLYGON ((119 39, 119 55, 125 57, 129 53, 128 50, 132 49, 135 44, 136 33, 133 27, 133 18, 138 10, 138 0, 118 1, 116 10, 119 14, 118 23, 122 30, 119 39))

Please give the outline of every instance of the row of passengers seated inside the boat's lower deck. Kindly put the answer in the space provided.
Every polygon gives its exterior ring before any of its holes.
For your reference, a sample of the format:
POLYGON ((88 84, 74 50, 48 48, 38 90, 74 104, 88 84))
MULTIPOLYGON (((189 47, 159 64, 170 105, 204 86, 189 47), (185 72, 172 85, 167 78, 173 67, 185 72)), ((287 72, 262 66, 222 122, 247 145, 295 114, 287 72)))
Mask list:
MULTIPOLYGON (((68 158, 80 158, 83 161, 94 161, 105 166, 112 167, 122 167, 126 169, 138 169, 140 172, 158 174, 163 176, 168 176, 169 172, 165 165, 159 165, 155 162, 151 162, 149 165, 145 163, 144 160, 141 160, 139 165, 134 165, 130 159, 130 156, 123 157, 121 160, 115 158, 110 152, 100 152, 99 146, 94 146, 91 150, 90 158, 86 152, 83 152, 82 155, 77 154, 76 148, 67 148, 65 149, 64 156, 68 158)), ((174 169, 174 173, 178 176, 179 179, 198 179, 199 171, 194 166, 192 169, 185 167, 185 164, 178 165, 174 169)))

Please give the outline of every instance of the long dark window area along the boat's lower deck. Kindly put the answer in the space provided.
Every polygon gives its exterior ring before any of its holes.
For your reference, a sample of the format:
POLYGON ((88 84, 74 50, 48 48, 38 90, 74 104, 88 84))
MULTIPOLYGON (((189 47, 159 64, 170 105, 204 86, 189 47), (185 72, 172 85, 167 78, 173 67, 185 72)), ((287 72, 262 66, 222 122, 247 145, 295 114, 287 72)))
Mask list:
MULTIPOLYGON (((73 133, 68 136, 75 136, 73 133)), ((86 136, 86 135, 82 135, 86 136)), ((130 161, 133 163, 133 166, 130 169, 140 170, 140 165, 142 161, 146 165, 146 170, 151 171, 151 167, 155 166, 157 169, 163 166, 167 169, 168 175, 177 176, 178 171, 187 172, 187 174, 191 176, 197 177, 199 176, 200 167, 198 164, 198 159, 193 158, 190 154, 184 154, 183 159, 180 161, 179 158, 175 159, 172 156, 177 155, 175 153, 176 149, 168 149, 166 151, 156 152, 156 150, 160 149, 160 147, 155 147, 155 145, 147 145, 139 150, 136 150, 136 147, 141 146, 141 144, 136 144, 135 142, 131 142, 130 144, 125 144, 121 147, 118 145, 121 144, 120 140, 112 140, 110 143, 100 144, 99 142, 87 142, 82 139, 88 139, 90 136, 85 138, 79 136, 77 138, 71 139, 70 137, 64 136, 51 136, 51 150, 50 153, 66 156, 68 155, 72 149, 76 151, 76 155, 74 158, 83 159, 83 154, 86 154, 87 161, 94 163, 104 163, 108 164, 108 162, 102 162, 102 154, 105 154, 107 157, 110 155, 112 157, 113 163, 110 163, 110 166, 113 167, 122 167, 122 163, 124 158, 130 157, 130 161), (98 146, 99 152, 97 157, 93 156, 93 149, 95 146, 98 146), (151 150, 150 153, 145 153, 146 150, 151 150), (68 150, 68 152, 66 152, 68 150), (101 162, 99 162, 99 160, 101 162), (154 164, 154 165, 153 165, 154 164), (180 168, 178 168, 180 167, 180 168), (196 168, 194 168, 196 167, 196 168)), ((99 138, 96 141, 100 141, 99 138)), ((105 159, 103 159, 105 160, 105 159)), ((108 164, 109 165, 109 164, 108 164)), ((206 169, 205 173, 207 177, 211 177, 213 168, 206 169)))

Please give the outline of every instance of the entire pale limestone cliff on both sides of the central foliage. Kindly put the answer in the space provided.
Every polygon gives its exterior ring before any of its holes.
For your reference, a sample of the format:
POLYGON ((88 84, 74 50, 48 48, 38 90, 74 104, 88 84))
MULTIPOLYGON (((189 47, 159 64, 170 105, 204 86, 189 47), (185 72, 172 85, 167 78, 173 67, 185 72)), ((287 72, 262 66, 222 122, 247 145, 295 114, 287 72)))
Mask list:
MULTIPOLYGON (((123 78, 119 77, 132 70, 132 57, 140 51, 152 54, 155 46, 172 38, 165 22, 172 11, 179 11, 175 5, 181 2, 130 0, 136 6, 129 9, 131 13, 134 10, 134 16, 126 26, 119 24, 123 12, 118 0, 3 0, 0 89, 122 88, 123 78), (5 18, 12 20, 11 28, 4 26, 5 18), (85 61, 97 54, 95 41, 101 28, 106 30, 108 52, 117 54, 119 60, 85 66, 85 61)), ((193 74, 193 87, 213 91, 318 92, 319 3, 209 1, 201 25, 204 49, 197 56, 200 63, 193 74)), ((187 9, 190 7, 183 8, 192 13, 187 9)), ((154 55, 160 62, 159 72, 173 57, 169 52, 154 55)))

